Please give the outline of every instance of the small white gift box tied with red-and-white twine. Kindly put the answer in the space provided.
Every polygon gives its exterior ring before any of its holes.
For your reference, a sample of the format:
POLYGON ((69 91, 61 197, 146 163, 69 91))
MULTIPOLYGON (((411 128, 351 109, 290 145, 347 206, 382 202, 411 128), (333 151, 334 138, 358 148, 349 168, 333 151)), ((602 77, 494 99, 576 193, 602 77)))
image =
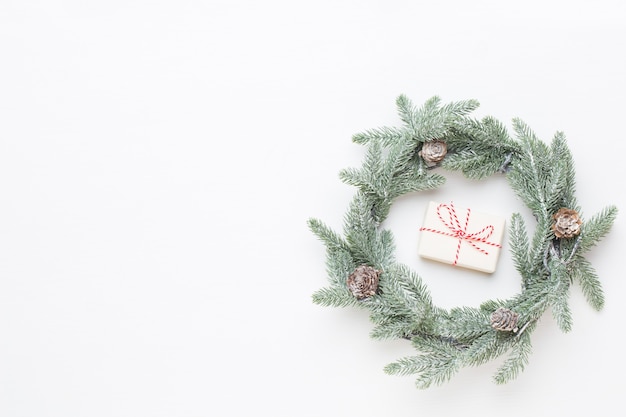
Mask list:
POLYGON ((505 219, 491 214, 430 202, 418 254, 464 268, 492 273, 496 270, 505 219))

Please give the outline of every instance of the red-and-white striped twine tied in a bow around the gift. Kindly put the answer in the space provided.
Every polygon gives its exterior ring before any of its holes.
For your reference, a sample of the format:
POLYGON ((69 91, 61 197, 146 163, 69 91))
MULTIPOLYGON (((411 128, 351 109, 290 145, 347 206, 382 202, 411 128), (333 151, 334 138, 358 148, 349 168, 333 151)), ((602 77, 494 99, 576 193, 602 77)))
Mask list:
POLYGON ((489 242, 488 241, 488 239, 493 234, 493 230, 494 230, 494 227, 491 224, 483 227, 478 232, 467 233, 467 226, 469 224, 470 214, 471 214, 471 209, 468 208, 467 209, 467 216, 465 216, 465 224, 463 226, 461 226, 461 221, 459 220, 459 217, 456 214, 456 209, 454 208, 454 204, 452 204, 452 203, 450 203, 449 205, 448 204, 439 204, 437 206, 437 217, 439 217, 439 220, 441 220, 441 222, 450 231, 449 232, 444 232, 444 231, 437 230, 437 229, 430 229, 428 227, 421 227, 420 228, 420 231, 437 233, 437 234, 444 235, 444 236, 450 236, 450 237, 453 237, 453 238, 456 238, 456 239, 459 240, 459 242, 457 244, 457 247, 456 247, 456 254, 454 256, 454 262, 452 263, 452 265, 456 265, 458 260, 459 260, 459 253, 461 252, 461 244, 463 243, 463 241, 466 241, 474 249, 476 249, 477 251, 479 251, 479 252, 481 252, 481 253, 483 253, 485 255, 489 255, 489 252, 487 252, 485 249, 483 249, 480 246, 478 246, 477 243, 482 243, 482 244, 485 244, 485 245, 495 246, 497 248, 501 248, 502 247, 502 245, 499 245, 497 243, 493 243, 493 242, 489 242), (447 217, 448 217, 449 220, 446 220, 446 218, 442 214, 443 210, 445 210, 447 212, 447 217))

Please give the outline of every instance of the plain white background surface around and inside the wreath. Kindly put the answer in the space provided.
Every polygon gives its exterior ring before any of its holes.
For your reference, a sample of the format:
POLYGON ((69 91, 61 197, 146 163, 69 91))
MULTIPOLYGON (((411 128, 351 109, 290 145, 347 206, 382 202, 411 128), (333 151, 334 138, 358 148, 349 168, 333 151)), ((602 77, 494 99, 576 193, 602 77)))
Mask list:
MULTIPOLYGON (((477 117, 566 133, 590 216, 626 208, 622 1, 11 1, 0 3, 0 416, 618 415, 623 215, 588 256, 606 306, 575 286, 527 369, 499 362, 417 390, 413 354, 323 308, 324 248, 395 98, 474 98, 477 117)), ((397 257, 442 307, 519 289, 415 254, 429 199, 510 218, 503 178, 450 175, 403 198, 397 257)), ((532 219, 531 219, 532 224, 532 219)))

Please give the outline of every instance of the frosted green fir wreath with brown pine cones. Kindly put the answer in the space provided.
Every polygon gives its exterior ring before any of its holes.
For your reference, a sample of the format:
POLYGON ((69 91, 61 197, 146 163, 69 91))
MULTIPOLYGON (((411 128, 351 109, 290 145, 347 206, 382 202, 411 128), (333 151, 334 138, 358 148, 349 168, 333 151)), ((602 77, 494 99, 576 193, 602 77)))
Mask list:
MULTIPOLYGON (((343 233, 318 219, 308 221, 326 247, 328 273, 328 285, 313 294, 313 302, 367 309, 372 338, 410 341, 417 354, 387 365, 385 372, 416 375, 418 388, 442 384, 464 367, 502 355, 507 357, 494 380, 506 383, 527 365, 531 335, 544 312, 551 310, 562 331, 571 329, 568 294, 574 283, 594 309, 602 308, 600 281, 584 255, 608 233, 617 208, 582 216, 574 195, 574 162, 560 132, 546 144, 515 119, 512 137, 493 117, 470 117, 478 107, 475 100, 444 105, 433 97, 416 107, 402 95, 396 105, 401 126, 353 136, 367 149, 360 168, 340 172, 344 183, 358 188, 343 233), (519 213, 508 224, 511 255, 521 275, 521 291, 512 298, 439 308, 419 275, 395 260, 392 233, 382 227, 392 202, 441 186, 440 168, 470 179, 505 175, 536 219, 532 233, 519 213)), ((459 245, 465 239, 472 243, 462 227, 453 229, 459 245)), ((484 236, 474 239, 477 248, 486 242, 484 236)))

